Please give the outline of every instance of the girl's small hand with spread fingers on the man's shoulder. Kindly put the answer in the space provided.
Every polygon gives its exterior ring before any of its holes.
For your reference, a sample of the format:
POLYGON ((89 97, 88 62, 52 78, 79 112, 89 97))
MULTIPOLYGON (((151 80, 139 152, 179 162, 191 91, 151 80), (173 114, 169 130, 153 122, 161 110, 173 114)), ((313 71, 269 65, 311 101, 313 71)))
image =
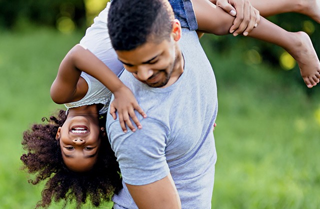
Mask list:
POLYGON ((137 128, 141 129, 142 125, 136 117, 134 109, 137 110, 143 116, 143 118, 146 117, 146 114, 139 106, 131 90, 128 87, 123 86, 113 92, 113 94, 114 99, 109 106, 110 114, 112 115, 113 119, 116 119, 115 112, 118 111, 119 122, 123 132, 127 131, 125 125, 127 125, 132 131, 136 130, 134 125, 131 123, 130 117, 137 128))

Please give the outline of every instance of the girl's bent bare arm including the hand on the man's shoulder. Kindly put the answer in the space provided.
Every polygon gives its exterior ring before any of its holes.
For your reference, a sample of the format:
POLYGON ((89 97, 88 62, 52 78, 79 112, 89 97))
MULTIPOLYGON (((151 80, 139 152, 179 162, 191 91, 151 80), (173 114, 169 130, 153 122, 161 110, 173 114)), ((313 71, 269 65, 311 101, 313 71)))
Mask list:
POLYGON ((67 103, 78 100, 85 95, 87 86, 81 84, 81 79, 79 79, 81 71, 95 77, 114 94, 116 105, 110 105, 110 113, 115 118, 115 109, 117 109, 123 131, 126 131, 125 123, 132 131, 135 130, 129 117, 138 128, 142 127, 134 109, 143 117, 146 117, 146 114, 138 105, 130 89, 101 60, 79 44, 71 48, 59 66, 57 76, 50 89, 50 95, 54 102, 67 103))

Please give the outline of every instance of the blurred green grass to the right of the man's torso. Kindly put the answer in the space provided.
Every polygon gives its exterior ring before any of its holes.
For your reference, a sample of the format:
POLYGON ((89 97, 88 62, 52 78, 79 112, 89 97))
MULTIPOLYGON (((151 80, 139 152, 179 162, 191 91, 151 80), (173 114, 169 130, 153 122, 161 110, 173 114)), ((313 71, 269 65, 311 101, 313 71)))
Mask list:
POLYGON ((320 86, 307 96, 292 72, 203 45, 219 99, 212 208, 320 208, 320 86))

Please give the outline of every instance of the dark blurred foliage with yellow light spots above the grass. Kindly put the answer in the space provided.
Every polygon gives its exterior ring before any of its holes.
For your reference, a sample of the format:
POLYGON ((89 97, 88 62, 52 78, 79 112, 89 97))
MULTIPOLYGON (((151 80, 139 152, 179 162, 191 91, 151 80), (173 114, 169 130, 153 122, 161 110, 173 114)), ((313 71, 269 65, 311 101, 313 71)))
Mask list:
MULTIPOLYGON (((26 27, 25 22, 56 27, 64 33, 74 29, 84 31, 91 24, 92 18, 103 8, 108 0, 0 0, 0 28, 26 27)), ((306 15, 285 13, 267 17, 273 23, 288 31, 307 32, 313 42, 316 52, 320 53, 320 24, 306 15)), ((28 24, 26 24, 28 26, 28 24)), ((272 31, 269 31, 272 32, 272 31)), ((276 45, 268 44, 252 38, 232 35, 211 36, 210 45, 220 53, 232 50, 234 45, 240 45, 248 62, 267 63, 271 66, 282 66, 284 70, 293 68, 293 76, 301 87, 298 66, 288 56, 283 56, 284 50, 276 45), (284 57, 284 58, 283 58, 284 57), (281 60, 282 59, 282 60, 281 60)), ((312 89, 306 90, 309 94, 312 89)))

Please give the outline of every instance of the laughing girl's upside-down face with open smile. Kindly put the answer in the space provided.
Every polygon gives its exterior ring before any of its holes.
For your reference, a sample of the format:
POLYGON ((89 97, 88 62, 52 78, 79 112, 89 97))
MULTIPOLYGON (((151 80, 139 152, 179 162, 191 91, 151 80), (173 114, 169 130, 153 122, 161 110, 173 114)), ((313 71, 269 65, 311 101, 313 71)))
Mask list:
MULTIPOLYGON (((64 164, 71 170, 83 172, 91 169, 96 162, 100 145, 100 131, 96 115, 67 117, 58 128, 56 139, 64 164)), ((105 133, 104 133, 105 134, 105 133)))

